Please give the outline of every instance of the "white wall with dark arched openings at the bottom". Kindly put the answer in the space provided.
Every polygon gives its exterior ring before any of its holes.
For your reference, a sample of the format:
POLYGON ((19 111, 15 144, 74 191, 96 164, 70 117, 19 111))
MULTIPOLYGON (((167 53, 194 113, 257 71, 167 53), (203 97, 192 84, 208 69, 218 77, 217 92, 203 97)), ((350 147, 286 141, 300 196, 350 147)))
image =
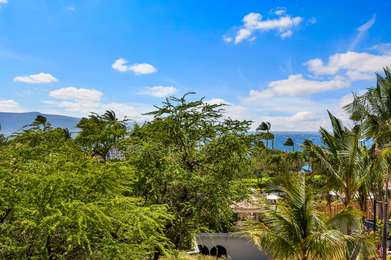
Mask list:
POLYGON ((267 256, 253 245, 251 240, 241 237, 243 234, 231 235, 231 233, 201 233, 197 237, 197 243, 206 246, 209 251, 214 246, 222 246, 227 250, 227 255, 232 260, 268 260, 267 256), (201 240, 201 241, 200 241, 201 240), (214 245, 213 245, 214 244, 214 245))

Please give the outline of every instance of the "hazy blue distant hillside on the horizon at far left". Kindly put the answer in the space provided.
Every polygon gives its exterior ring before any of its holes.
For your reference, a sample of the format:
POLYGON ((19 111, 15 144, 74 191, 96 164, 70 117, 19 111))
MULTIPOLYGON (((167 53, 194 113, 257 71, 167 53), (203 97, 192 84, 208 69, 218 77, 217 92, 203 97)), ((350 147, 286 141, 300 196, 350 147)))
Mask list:
POLYGON ((54 128, 68 128, 70 131, 77 123, 80 118, 72 118, 70 116, 59 116, 59 115, 48 115, 39 112, 27 112, 27 113, 7 113, 0 112, 0 124, 1 132, 16 131, 22 126, 31 124, 37 115, 44 116, 54 128))

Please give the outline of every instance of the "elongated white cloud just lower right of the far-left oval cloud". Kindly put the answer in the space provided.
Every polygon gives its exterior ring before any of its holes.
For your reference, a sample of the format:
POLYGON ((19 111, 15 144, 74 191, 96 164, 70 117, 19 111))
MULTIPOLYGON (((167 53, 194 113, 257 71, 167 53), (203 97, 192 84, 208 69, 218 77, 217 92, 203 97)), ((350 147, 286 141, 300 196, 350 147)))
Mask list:
POLYGON ((63 87, 49 93, 49 96, 59 99, 76 101, 98 101, 103 93, 95 89, 77 89, 75 87, 63 87))

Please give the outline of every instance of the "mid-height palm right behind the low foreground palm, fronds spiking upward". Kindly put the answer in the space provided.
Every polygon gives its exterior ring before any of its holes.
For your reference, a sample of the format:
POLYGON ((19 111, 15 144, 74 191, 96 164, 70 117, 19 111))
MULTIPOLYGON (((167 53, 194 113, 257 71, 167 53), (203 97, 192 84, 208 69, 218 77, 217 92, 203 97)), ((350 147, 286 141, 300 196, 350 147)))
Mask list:
MULTIPOLYGON (((378 171, 373 170, 371 159, 373 147, 366 150, 360 145, 363 136, 360 125, 350 130, 343 126, 341 120, 330 112, 328 114, 333 134, 321 127, 321 146, 306 142, 301 144, 301 147, 308 157, 319 162, 322 173, 320 178, 327 184, 327 189, 334 191, 341 199, 344 194, 344 205, 349 207, 353 196, 359 190, 362 191, 362 185, 370 186, 371 182, 378 178, 378 171)), ((351 229, 348 228, 347 233, 350 232, 351 229)))

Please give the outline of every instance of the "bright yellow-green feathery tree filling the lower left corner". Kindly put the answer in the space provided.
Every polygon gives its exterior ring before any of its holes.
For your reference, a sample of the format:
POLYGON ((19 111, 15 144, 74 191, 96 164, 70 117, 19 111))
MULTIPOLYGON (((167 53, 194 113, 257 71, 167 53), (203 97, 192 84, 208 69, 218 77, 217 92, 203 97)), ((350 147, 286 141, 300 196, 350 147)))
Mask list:
MULTIPOLYGON (((40 140, 62 136, 58 129, 35 132, 45 136, 40 140)), ((66 139, 61 146, 46 140, 0 148, 5 259, 157 259, 169 252, 164 232, 172 216, 167 205, 142 207, 129 196, 133 167, 97 162, 66 139)))

